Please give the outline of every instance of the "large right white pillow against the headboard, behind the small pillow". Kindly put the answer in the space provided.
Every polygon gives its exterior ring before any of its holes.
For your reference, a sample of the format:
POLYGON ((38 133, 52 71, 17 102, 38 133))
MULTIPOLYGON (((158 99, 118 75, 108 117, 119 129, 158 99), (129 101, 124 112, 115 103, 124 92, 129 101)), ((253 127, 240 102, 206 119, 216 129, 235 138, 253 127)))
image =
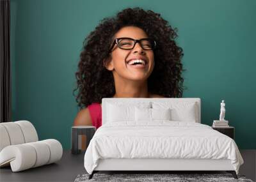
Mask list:
POLYGON ((198 108, 196 102, 152 102, 154 109, 171 109, 172 121, 198 121, 198 108))

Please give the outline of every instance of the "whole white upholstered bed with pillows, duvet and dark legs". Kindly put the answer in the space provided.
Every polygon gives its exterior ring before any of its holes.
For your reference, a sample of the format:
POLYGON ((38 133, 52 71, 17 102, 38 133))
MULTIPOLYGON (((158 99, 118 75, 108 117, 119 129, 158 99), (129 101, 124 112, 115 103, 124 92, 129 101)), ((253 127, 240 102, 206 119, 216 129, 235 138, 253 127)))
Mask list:
POLYGON ((99 171, 227 171, 243 158, 230 137, 201 124, 200 98, 103 98, 102 126, 84 155, 99 171))

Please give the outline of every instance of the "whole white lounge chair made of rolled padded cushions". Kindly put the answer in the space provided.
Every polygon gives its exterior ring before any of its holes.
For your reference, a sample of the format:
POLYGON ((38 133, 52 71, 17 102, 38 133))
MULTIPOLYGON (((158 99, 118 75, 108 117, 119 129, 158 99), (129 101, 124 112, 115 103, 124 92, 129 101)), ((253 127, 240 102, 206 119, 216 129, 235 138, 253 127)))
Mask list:
POLYGON ((13 172, 39 167, 61 159, 63 148, 55 139, 38 141, 29 121, 0 123, 0 167, 11 165, 13 172))

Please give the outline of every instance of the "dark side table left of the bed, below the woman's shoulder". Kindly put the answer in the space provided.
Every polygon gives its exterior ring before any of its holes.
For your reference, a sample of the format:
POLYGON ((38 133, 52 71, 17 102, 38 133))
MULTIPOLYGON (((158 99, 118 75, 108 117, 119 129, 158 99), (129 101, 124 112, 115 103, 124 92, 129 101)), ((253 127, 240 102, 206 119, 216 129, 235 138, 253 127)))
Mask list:
POLYGON ((71 128, 71 153, 72 154, 79 154, 81 153, 81 149, 78 148, 79 146, 79 135, 86 135, 86 143, 87 146, 90 143, 94 133, 96 131, 95 126, 72 126, 71 128))

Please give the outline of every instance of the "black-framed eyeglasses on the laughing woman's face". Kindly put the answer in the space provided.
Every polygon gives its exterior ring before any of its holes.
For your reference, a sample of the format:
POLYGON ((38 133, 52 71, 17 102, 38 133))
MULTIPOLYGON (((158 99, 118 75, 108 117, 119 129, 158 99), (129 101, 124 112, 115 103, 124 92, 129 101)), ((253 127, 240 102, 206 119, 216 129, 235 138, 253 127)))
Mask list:
POLYGON ((120 49, 131 50, 135 47, 135 44, 137 42, 140 43, 140 46, 144 50, 153 50, 156 48, 156 41, 154 41, 150 38, 141 38, 140 40, 134 40, 132 38, 124 37, 124 38, 116 38, 109 50, 111 51, 113 49, 113 47, 115 46, 115 44, 120 49))

